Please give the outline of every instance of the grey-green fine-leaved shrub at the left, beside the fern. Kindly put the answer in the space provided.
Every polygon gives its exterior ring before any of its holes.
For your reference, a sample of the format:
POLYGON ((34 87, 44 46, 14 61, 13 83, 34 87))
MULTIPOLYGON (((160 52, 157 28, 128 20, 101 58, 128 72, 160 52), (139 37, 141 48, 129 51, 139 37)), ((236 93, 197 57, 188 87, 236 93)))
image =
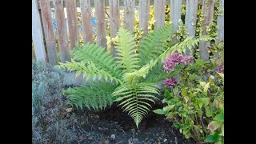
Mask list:
POLYGON ((62 81, 62 71, 43 62, 32 62, 33 143, 66 143, 75 138, 67 128, 72 121, 62 119, 66 110, 62 81))

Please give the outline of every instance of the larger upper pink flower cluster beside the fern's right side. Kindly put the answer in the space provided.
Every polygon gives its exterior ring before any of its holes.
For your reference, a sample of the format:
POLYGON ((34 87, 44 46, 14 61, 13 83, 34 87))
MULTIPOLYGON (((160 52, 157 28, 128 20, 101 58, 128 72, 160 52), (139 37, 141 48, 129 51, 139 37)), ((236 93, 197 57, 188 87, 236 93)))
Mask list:
POLYGON ((165 62, 163 62, 163 69, 168 73, 170 71, 174 71, 174 66, 180 63, 186 64, 189 62, 194 62, 194 58, 190 55, 183 55, 178 52, 174 52, 166 58, 165 62))

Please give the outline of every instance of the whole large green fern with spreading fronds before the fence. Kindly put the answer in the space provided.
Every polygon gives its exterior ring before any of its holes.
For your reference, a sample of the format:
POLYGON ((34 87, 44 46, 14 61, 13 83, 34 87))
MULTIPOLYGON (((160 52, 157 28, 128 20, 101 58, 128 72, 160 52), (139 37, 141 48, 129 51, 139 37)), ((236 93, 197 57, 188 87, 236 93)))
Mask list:
POLYGON ((121 27, 115 42, 115 58, 102 46, 78 45, 71 62, 60 63, 59 67, 82 74, 89 86, 66 90, 70 104, 102 110, 107 103, 120 102, 118 106, 122 106, 138 127, 157 99, 156 83, 170 76, 161 68, 166 56, 176 50, 184 53, 187 47, 210 39, 187 37, 170 46, 171 33, 171 25, 162 26, 142 38, 137 50, 134 34, 121 27))

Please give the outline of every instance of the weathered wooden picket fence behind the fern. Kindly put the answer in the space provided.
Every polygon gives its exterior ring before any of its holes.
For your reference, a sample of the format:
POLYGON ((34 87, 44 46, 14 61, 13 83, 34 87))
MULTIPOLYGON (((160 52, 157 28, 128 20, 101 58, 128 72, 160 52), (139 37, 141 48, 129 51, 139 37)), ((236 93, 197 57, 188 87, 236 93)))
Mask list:
MULTIPOLYGON (((206 26, 213 22, 215 0, 154 0, 155 29, 164 26, 166 4, 170 3, 170 21, 174 23, 174 30, 178 30, 178 20, 181 18, 182 1, 186 4, 185 26, 188 35, 195 35, 198 2, 202 2, 202 34, 206 34, 206 26)), ((51 5, 57 22, 57 36, 59 57, 61 62, 70 61, 70 50, 78 41, 78 17, 77 6, 81 8, 82 34, 84 42, 93 42, 93 31, 91 25, 91 3, 94 3, 96 18, 97 43, 106 46, 106 1, 105 0, 32 0, 32 38, 34 53, 37 60, 49 62, 56 65, 58 53, 56 51, 55 33, 51 16, 51 5), (66 6, 67 25, 66 29, 64 6, 66 6), (68 38, 69 35, 69 38, 68 38), (45 39, 45 41, 43 40, 45 39), (70 41, 70 44, 69 44, 70 41), (45 44, 44 44, 45 43, 45 44), (46 48, 45 48, 46 46, 46 48)), ((138 3, 139 27, 147 33, 147 22, 150 20, 150 4, 152 0, 109 0, 110 6, 110 38, 114 38, 120 26, 120 5, 124 9, 124 25, 132 30, 134 27, 134 7, 138 3)), ((220 9, 224 10, 224 0, 219 0, 220 9)), ((218 16, 218 42, 224 41, 224 14, 218 16)), ((201 58, 208 59, 208 46, 210 42, 199 44, 201 58)))

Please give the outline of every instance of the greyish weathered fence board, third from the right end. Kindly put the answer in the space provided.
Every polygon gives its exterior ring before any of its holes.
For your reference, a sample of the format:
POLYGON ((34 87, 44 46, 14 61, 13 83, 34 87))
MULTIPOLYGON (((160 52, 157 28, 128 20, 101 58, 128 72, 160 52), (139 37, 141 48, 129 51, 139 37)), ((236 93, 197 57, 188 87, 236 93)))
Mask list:
MULTIPOLYGON (((194 36, 197 23, 198 0, 186 0, 186 17, 185 26, 188 36, 194 36)), ((190 54, 190 50, 186 49, 186 54, 190 54)), ((193 55, 193 54, 191 54, 193 55)))

